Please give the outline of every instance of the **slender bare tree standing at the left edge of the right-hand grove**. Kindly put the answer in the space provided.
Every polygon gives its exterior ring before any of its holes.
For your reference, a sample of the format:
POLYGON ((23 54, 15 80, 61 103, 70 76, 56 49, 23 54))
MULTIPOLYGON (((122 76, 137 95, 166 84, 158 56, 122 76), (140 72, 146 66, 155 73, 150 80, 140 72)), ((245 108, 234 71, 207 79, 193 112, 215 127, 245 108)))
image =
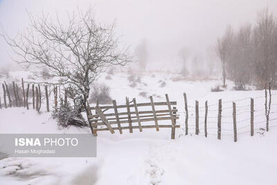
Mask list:
POLYGON ((217 45, 215 47, 217 56, 220 58, 221 64, 222 64, 223 87, 226 87, 226 62, 228 60, 229 53, 231 51, 232 39, 233 39, 233 30, 231 26, 228 26, 224 36, 222 38, 217 39, 217 45))

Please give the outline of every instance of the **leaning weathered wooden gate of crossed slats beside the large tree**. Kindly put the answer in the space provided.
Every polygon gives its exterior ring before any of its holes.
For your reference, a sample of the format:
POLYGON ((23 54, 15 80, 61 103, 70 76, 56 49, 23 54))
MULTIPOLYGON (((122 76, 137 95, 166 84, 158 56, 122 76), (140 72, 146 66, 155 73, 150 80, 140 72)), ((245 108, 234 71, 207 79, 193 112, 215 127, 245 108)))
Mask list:
POLYGON ((177 109, 172 105, 177 105, 177 102, 170 102, 168 94, 166 94, 166 102, 154 103, 150 96, 150 103, 136 103, 136 98, 132 101, 126 98, 125 105, 116 105, 116 100, 112 103, 113 105, 108 106, 89 107, 89 125, 94 136, 97 136, 98 131, 109 131, 114 134, 114 130, 119 130, 122 134, 122 130, 129 130, 132 133, 133 129, 139 129, 142 132, 146 128, 156 128, 159 131, 161 127, 168 127, 172 130, 171 139, 175 139, 175 128, 180 125, 176 123, 179 119, 177 109), (157 107, 163 108, 157 109, 157 107), (170 121, 171 124, 161 124, 158 121, 170 121), (148 125, 145 125, 145 122, 148 122, 148 125))

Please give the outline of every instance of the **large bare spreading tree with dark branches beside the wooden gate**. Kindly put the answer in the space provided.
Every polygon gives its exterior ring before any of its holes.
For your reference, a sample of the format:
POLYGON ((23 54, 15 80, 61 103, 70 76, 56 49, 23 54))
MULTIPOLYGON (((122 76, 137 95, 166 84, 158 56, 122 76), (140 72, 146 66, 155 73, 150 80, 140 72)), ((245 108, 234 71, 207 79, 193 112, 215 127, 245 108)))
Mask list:
MULTIPOLYGON (((125 65, 132 60, 126 46, 119 46, 115 24, 96 22, 92 9, 68 15, 66 23, 46 15, 30 18, 30 27, 17 37, 2 34, 13 51, 21 57, 22 67, 47 67, 61 85, 70 84, 83 95, 87 111, 90 85, 111 65, 125 65)), ((88 112, 87 112, 88 113, 88 112)))

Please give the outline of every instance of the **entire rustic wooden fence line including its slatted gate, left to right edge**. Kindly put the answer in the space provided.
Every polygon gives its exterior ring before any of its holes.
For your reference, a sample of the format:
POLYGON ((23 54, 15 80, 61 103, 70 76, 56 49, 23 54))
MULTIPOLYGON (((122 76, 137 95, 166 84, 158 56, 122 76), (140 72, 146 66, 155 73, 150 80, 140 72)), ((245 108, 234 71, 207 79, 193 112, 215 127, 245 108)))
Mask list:
MULTIPOLYGON (((46 111, 50 112, 50 101, 53 101, 53 103, 51 103, 51 105, 53 105, 53 109, 57 109, 58 94, 60 99, 64 101, 64 104, 68 102, 66 88, 61 90, 60 87, 57 87, 57 84, 49 84, 47 82, 24 82, 24 79, 21 78, 21 87, 19 87, 19 85, 15 82, 12 82, 12 84, 3 82, 2 89, 3 96, 1 97, 0 94, 0 109, 3 107, 8 108, 22 106, 29 109, 29 106, 32 107, 33 105, 33 109, 40 112, 42 101, 45 100, 46 111), (50 100, 52 92, 53 99, 51 98, 50 100), (3 104, 1 103, 1 98, 3 98, 3 104), (32 103, 29 103, 29 100, 32 100, 32 103)), ((177 105, 177 102, 170 102, 167 95, 166 102, 158 103, 153 102, 152 96, 150 97, 150 103, 136 103, 136 99, 134 98, 130 102, 126 99, 126 105, 116 105, 116 100, 113 100, 113 105, 97 105, 96 107, 90 107, 88 118, 89 123, 91 124, 91 132, 94 135, 96 135, 98 131, 103 130, 108 130, 111 133, 114 133, 114 130, 119 130, 121 134, 122 130, 129 130, 129 132, 132 132, 133 129, 139 129, 142 131, 145 128, 156 128, 157 131, 159 131, 159 127, 171 127, 172 139, 174 139, 175 127, 180 127, 180 125, 176 125, 176 119, 179 118, 179 115, 177 114, 184 114, 184 130, 186 135, 201 135, 204 133, 204 136, 206 137, 208 135, 217 136, 217 139, 221 139, 222 136, 233 136, 234 141, 238 141, 238 135, 240 134, 250 133, 250 135, 253 136, 254 131, 258 131, 258 133, 263 134, 265 130, 269 131, 269 127, 277 127, 277 125, 274 125, 277 123, 277 112, 271 112, 271 107, 277 106, 277 103, 271 102, 272 96, 277 96, 277 94, 271 94, 269 85, 268 90, 265 87, 265 96, 242 98, 233 101, 222 101, 220 99, 218 100, 218 103, 211 105, 208 105, 208 101, 206 101, 205 106, 199 107, 199 102, 197 100, 195 101, 195 106, 188 105, 187 96, 184 94, 184 112, 177 112, 176 107, 171 108, 171 105, 177 105), (255 109, 254 100, 256 101, 260 98, 265 98, 265 107, 262 109, 255 109), (250 100, 250 103, 247 103, 247 105, 237 105, 237 103, 241 103, 246 100, 250 100), (232 105, 227 107, 222 106, 229 103, 232 103, 232 105), (155 108, 157 106, 164 105, 168 106, 168 109, 156 110, 155 108), (143 111, 139 111, 138 107, 150 107, 151 109, 148 111, 145 111, 144 109, 143 111), (132 108, 134 109, 133 111, 131 111, 132 108), (118 112, 118 109, 125 109, 126 112, 118 112), (94 110, 96 111, 96 114, 92 114, 91 111, 94 110), (109 112, 108 110, 114 110, 114 112, 107 113, 109 112), (222 114, 222 111, 224 113, 226 111, 228 112, 228 110, 229 114, 222 114), (249 115, 245 118, 244 114, 247 113, 249 115), (191 116, 192 114, 195 115, 191 116), (201 114, 204 114, 204 116, 201 116, 201 114), (276 117, 269 118, 271 115, 276 115, 276 117), (265 121, 260 119, 262 116, 265 116, 265 121), (238 118, 240 117, 244 119, 239 120, 238 118), (161 122, 170 120, 172 121, 171 125, 158 125, 158 121, 161 122), (155 124, 143 125, 143 122, 152 122, 155 124), (192 122, 195 122, 195 124, 191 124, 192 122), (138 125, 133 125, 132 123, 136 123, 138 125), (242 123, 246 125, 242 125, 242 123), (257 125, 261 125, 262 123, 265 123, 265 128, 260 127, 255 129, 257 125), (129 125, 125 126, 124 124, 129 125), (217 126, 214 126, 215 124, 217 124, 217 126), (111 125, 117 125, 117 127, 111 127, 111 125), (189 132, 189 130, 194 130, 195 132, 192 133, 189 132), (216 132, 211 132, 211 130, 215 130, 216 132)), ((259 105, 261 105, 261 103, 259 103, 259 105)))

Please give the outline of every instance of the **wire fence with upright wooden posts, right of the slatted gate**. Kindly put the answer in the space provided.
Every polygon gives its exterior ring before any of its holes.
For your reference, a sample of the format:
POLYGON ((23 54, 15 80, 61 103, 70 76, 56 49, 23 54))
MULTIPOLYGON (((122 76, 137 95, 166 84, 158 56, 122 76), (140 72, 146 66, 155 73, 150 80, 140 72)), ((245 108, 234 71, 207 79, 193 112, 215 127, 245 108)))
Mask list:
POLYGON ((277 127, 277 103, 271 103, 273 102, 271 97, 275 98, 277 94, 271 94, 269 89, 269 97, 267 97, 267 89, 265 91, 265 96, 228 101, 219 100, 218 103, 211 105, 208 105, 206 101, 205 106, 202 107, 198 107, 197 100, 195 106, 186 105, 187 97, 184 94, 186 107, 184 111, 177 112, 177 114, 185 117, 185 121, 181 125, 184 125, 183 129, 186 135, 217 136, 218 139, 221 139, 221 136, 236 137, 247 133, 251 133, 253 136, 254 132, 264 134, 269 128, 277 127), (231 103, 233 105, 230 105, 231 103), (236 105, 236 103, 240 104, 236 105))

